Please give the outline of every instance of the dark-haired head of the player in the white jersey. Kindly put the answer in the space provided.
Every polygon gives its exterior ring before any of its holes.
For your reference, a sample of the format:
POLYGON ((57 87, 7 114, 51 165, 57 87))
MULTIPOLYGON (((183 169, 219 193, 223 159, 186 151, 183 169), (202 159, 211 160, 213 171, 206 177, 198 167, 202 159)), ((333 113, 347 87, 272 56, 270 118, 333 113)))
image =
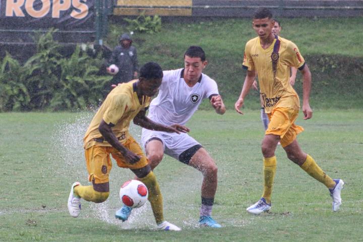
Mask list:
POLYGON ((208 62, 205 52, 199 46, 190 46, 184 54, 184 79, 187 82, 196 82, 202 75, 208 62))

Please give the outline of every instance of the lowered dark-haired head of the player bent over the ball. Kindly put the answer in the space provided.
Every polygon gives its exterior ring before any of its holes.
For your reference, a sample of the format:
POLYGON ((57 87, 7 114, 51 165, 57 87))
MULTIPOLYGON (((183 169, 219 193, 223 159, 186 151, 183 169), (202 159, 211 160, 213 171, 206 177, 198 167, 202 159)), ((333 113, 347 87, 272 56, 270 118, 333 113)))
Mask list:
POLYGON ((143 95, 152 97, 159 90, 163 78, 159 64, 148 62, 140 69, 139 88, 143 95))

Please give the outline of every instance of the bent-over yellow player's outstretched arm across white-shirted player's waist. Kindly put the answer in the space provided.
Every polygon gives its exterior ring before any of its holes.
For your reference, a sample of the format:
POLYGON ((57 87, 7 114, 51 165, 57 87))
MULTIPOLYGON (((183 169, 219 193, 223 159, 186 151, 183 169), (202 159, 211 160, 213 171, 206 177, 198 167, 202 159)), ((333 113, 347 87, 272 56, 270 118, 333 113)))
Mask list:
POLYGON ((183 126, 183 125, 171 125, 171 126, 165 126, 159 123, 155 123, 153 120, 148 118, 146 115, 146 111, 141 110, 136 116, 134 117, 134 124, 141 126, 142 128, 148 129, 148 130, 155 130, 155 131, 163 131, 168 133, 187 133, 190 130, 183 126))

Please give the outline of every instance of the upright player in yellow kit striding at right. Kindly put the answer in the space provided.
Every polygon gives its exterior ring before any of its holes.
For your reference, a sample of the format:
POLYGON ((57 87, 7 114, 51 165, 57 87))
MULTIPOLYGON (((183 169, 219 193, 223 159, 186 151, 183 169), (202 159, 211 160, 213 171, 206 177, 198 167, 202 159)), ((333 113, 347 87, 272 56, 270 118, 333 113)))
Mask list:
POLYGON ((262 141, 264 157, 262 198, 247 208, 247 211, 260 214, 271 209, 272 185, 276 173, 275 150, 279 141, 292 162, 329 189, 333 199, 333 211, 338 211, 341 205, 340 193, 344 185, 343 180, 330 178, 310 155, 301 150, 296 140, 296 135, 304 129, 295 125, 300 102, 289 82, 290 67, 297 68, 302 74, 304 92, 302 112, 304 119, 310 119, 313 111, 309 104, 311 73, 308 65, 294 43, 272 33, 274 20, 270 10, 258 9, 253 16, 252 24, 258 37, 251 39, 246 44, 243 66, 247 69, 247 75, 234 108, 238 113, 243 114, 240 108, 258 75, 260 93, 264 99, 264 107, 270 124, 262 141))

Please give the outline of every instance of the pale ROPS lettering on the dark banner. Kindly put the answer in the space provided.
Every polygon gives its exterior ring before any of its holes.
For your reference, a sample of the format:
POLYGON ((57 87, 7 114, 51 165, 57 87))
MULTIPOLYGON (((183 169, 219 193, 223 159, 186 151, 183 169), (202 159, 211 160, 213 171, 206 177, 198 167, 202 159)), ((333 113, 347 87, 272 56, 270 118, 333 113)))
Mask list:
POLYGON ((33 18, 42 18, 47 15, 51 9, 52 18, 59 18, 61 11, 70 10, 71 6, 74 10, 71 17, 75 19, 83 19, 88 15, 88 6, 85 4, 87 0, 38 0, 41 1, 41 8, 34 9, 34 2, 37 0, 7 0, 5 15, 7 17, 25 17, 21 7, 25 4, 25 11, 33 18), (82 2, 81 2, 82 1, 82 2))

